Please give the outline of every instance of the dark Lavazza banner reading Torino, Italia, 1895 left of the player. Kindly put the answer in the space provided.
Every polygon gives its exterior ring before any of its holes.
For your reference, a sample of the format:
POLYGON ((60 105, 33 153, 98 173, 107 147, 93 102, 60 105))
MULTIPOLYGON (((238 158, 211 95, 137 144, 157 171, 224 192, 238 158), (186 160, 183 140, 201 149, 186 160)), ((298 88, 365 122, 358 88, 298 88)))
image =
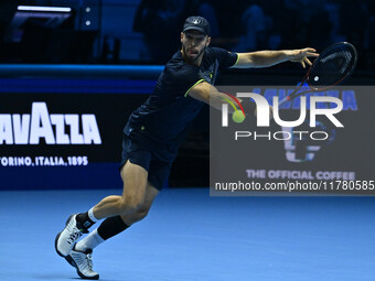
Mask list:
POLYGON ((147 97, 1 93, 0 190, 121 186, 122 129, 147 97))

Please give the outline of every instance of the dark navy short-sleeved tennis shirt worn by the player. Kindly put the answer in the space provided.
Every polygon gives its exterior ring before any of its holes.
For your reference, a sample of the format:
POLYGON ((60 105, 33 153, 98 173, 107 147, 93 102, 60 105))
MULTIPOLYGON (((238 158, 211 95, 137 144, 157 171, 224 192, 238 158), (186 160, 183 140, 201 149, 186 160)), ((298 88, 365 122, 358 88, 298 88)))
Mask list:
POLYGON ((202 82, 214 85, 217 71, 234 66, 237 57, 236 53, 207 47, 201 66, 195 66, 185 63, 180 51, 175 53, 151 96, 129 117, 125 134, 161 161, 173 161, 189 126, 204 105, 188 95, 190 89, 202 82))

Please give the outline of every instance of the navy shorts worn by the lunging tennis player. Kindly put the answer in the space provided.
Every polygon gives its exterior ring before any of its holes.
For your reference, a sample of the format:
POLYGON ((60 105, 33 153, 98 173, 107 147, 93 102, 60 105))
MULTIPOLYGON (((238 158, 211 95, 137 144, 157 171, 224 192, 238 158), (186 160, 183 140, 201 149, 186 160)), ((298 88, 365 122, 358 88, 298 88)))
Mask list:
POLYGON ((133 139, 126 133, 122 133, 122 153, 121 153, 121 165, 129 160, 132 164, 142 166, 149 172, 148 181, 157 187, 159 191, 167 183, 169 177, 172 163, 164 162, 158 159, 158 156, 140 145, 140 141, 133 139))

